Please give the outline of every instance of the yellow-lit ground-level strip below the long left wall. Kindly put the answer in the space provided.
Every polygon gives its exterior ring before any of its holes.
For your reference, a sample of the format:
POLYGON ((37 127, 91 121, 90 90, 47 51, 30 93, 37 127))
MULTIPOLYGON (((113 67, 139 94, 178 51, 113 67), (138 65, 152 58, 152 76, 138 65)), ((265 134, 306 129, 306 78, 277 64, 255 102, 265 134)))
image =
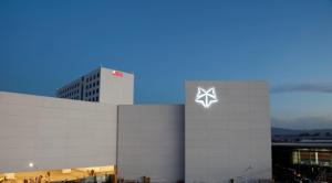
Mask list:
MULTIPOLYGON (((31 164, 33 166, 33 164, 31 164)), ((0 183, 45 183, 45 182, 115 182, 115 166, 73 168, 31 172, 0 172, 0 183)))

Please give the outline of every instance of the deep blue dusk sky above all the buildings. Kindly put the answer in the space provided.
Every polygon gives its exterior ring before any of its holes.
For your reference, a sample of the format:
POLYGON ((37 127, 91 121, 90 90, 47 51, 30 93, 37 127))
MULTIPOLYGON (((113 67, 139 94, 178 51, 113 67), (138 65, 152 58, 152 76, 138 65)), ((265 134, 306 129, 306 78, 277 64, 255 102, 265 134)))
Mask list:
POLYGON ((0 90, 54 96, 100 65, 135 74, 136 104, 267 80, 273 126, 332 128, 332 1, 0 1, 0 90))

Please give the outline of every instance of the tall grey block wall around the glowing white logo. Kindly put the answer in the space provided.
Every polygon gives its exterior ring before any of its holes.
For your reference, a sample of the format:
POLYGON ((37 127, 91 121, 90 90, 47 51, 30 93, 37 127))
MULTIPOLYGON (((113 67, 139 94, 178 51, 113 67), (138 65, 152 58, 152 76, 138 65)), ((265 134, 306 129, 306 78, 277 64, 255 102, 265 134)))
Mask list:
POLYGON ((186 183, 271 179, 264 82, 187 82, 185 108, 186 183), (195 103, 197 87, 215 87, 219 101, 210 108, 195 103))

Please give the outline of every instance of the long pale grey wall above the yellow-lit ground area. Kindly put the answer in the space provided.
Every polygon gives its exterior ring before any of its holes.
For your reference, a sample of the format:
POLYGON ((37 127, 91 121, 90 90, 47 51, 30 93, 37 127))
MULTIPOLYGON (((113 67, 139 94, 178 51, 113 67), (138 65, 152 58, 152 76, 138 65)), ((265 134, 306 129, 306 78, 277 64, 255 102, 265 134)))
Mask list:
POLYGON ((0 172, 115 164, 116 120, 114 105, 0 92, 0 172))

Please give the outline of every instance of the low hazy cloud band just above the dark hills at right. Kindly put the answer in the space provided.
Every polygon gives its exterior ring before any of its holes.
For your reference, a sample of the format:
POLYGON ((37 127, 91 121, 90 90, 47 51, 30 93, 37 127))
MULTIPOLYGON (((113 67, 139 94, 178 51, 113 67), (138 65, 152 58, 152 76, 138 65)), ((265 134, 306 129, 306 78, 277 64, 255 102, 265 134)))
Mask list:
POLYGON ((273 127, 288 129, 332 129, 332 119, 329 117, 301 117, 294 119, 281 119, 272 117, 273 127))

